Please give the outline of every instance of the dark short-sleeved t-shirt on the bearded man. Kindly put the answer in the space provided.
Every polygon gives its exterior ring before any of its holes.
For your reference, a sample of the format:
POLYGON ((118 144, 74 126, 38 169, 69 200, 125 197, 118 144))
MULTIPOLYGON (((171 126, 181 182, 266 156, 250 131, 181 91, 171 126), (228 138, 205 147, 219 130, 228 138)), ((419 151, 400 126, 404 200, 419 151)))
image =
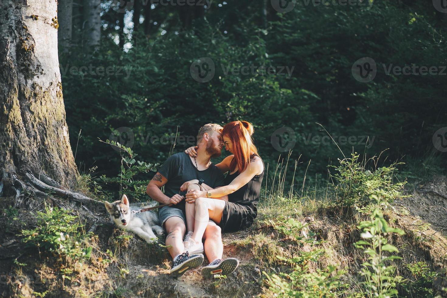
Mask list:
MULTIPOLYGON (((216 188, 223 186, 223 180, 225 180, 222 172, 214 164, 211 163, 207 169, 199 171, 190 156, 183 152, 166 159, 158 172, 168 179, 164 185, 164 194, 168 197, 172 197, 176 193, 185 196, 186 192, 180 192, 180 186, 186 181, 203 179, 206 185, 216 188)), ((185 200, 173 207, 185 210, 185 200)))

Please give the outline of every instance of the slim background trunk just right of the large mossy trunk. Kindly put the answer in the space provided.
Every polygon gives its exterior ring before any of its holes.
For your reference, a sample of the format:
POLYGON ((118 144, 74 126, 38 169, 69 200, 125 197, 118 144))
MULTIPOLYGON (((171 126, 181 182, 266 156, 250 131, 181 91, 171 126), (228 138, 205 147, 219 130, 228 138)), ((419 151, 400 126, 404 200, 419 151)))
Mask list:
POLYGON ((59 0, 57 8, 59 47, 63 52, 68 52, 72 45, 73 0, 59 0))

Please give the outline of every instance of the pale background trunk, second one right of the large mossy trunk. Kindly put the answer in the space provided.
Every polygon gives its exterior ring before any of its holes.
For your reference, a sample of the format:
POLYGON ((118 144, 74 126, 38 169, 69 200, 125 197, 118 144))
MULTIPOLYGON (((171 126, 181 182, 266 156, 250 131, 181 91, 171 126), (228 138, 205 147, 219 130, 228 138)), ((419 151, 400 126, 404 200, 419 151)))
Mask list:
POLYGON ((89 51, 101 39, 101 0, 84 0, 84 46, 89 51))

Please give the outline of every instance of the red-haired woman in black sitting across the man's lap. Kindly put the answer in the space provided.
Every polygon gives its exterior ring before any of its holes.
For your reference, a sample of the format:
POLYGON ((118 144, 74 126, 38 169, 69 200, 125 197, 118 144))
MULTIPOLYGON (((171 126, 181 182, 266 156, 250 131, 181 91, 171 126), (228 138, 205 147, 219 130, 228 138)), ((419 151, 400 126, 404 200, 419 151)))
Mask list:
MULTIPOLYGON (((203 249, 202 236, 209 220, 228 232, 249 227, 256 218, 264 163, 257 154, 252 134, 253 125, 246 121, 233 121, 223 127, 223 143, 232 155, 216 166, 228 174, 222 187, 194 189, 186 193, 186 202, 195 202, 195 212, 186 212, 187 222, 194 222, 194 228, 188 227, 190 232, 186 235, 186 250, 203 249)), ((196 156, 194 147, 188 148, 185 153, 196 156)), ((188 181, 181 189, 194 183, 194 180, 188 181)))

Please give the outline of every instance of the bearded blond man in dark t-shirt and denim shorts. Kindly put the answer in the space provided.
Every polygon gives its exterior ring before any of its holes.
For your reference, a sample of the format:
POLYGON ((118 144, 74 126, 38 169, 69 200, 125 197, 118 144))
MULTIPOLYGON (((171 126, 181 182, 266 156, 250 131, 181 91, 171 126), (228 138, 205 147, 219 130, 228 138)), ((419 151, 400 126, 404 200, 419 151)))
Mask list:
POLYGON ((159 218, 166 230, 165 244, 173 258, 171 275, 180 277, 186 270, 194 269, 203 262, 203 251, 208 260, 220 259, 223 252, 220 227, 209 222, 203 238, 204 248, 194 252, 185 252, 183 236, 186 232, 185 194, 180 187, 184 182, 198 180, 212 188, 223 186, 224 176, 214 164, 211 157, 219 157, 223 148, 222 126, 206 124, 197 135, 197 157, 191 158, 183 152, 170 156, 149 182, 146 192, 160 204, 172 204, 160 208, 159 218), (161 187, 164 186, 164 193, 161 187))

